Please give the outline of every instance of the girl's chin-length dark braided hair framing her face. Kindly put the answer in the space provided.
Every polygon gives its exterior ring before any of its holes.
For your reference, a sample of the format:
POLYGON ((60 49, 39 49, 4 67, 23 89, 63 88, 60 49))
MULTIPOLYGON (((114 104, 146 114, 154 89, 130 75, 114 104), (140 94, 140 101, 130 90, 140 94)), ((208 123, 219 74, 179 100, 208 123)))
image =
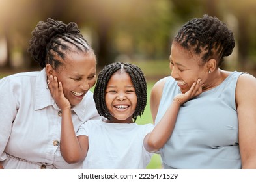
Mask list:
POLYGON ((96 108, 100 116, 104 116, 105 118, 111 120, 112 116, 107 110, 106 106, 105 91, 109 79, 113 73, 117 72, 118 70, 124 70, 130 75, 135 88, 135 93, 137 95, 137 106, 132 116, 135 122, 137 116, 141 116, 143 114, 147 105, 147 82, 142 70, 134 64, 114 62, 108 64, 100 71, 93 94, 96 108))

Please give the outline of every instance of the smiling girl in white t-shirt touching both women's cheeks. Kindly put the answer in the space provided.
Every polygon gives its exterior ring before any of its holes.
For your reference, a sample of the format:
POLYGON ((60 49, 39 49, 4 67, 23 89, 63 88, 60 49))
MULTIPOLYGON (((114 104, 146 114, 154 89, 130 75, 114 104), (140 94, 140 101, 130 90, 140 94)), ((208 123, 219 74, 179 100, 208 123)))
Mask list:
POLYGON ((146 168, 152 153, 171 136, 180 105, 202 91, 199 79, 188 92, 173 99, 156 127, 137 125, 135 120, 147 103, 143 72, 134 64, 112 63, 100 72, 94 88, 96 108, 105 118, 85 122, 76 133, 61 82, 57 77, 50 77, 48 82, 62 110, 61 153, 69 163, 84 160, 83 168, 146 168))

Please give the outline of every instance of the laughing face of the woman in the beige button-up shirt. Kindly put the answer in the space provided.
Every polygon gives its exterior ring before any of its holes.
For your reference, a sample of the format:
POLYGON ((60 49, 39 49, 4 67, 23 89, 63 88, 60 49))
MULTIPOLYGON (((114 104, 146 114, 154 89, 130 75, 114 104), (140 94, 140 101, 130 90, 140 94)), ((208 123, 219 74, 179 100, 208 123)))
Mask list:
MULTIPOLYGON (((48 64, 46 69, 49 66, 48 64)), ((70 101, 70 105, 80 103, 96 83, 96 58, 91 52, 67 54, 63 64, 52 70, 52 75, 57 76, 58 81, 63 84, 64 96, 70 101)))

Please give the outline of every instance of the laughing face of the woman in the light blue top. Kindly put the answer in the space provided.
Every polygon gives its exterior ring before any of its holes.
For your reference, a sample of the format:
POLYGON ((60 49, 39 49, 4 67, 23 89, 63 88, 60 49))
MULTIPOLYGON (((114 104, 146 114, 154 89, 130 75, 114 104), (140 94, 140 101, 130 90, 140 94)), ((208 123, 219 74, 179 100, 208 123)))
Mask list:
POLYGON ((201 79, 204 83, 206 78, 206 65, 200 65, 199 55, 195 55, 182 48, 179 44, 172 44, 170 55, 170 70, 182 93, 190 90, 192 84, 201 79))

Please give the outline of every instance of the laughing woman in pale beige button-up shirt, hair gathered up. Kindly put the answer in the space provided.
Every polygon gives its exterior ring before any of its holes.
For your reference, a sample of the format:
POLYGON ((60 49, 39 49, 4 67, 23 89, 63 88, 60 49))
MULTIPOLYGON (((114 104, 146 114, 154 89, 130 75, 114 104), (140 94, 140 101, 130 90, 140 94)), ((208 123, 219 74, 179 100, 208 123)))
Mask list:
POLYGON ((63 83, 74 132, 83 122, 101 118, 89 91, 96 83, 94 51, 73 22, 49 18, 32 35, 28 51, 42 70, 0 81, 0 168, 80 168, 81 163, 68 164, 61 156, 62 113, 47 80, 63 83))

